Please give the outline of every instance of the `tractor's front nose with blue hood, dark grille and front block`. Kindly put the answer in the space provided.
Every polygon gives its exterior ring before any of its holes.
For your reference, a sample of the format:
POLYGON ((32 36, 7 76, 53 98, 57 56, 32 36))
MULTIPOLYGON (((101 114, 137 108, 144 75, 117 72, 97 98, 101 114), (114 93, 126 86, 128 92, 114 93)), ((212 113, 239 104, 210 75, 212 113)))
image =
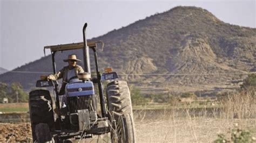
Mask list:
POLYGON ((66 101, 70 123, 76 130, 90 128, 90 120, 97 119, 96 95, 91 81, 72 82, 66 85, 66 101))

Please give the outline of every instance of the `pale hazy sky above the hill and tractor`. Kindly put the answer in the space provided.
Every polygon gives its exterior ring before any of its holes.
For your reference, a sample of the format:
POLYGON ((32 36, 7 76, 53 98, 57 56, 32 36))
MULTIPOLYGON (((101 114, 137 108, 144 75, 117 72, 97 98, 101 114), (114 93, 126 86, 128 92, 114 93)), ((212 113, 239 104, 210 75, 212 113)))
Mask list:
MULTIPOLYGON (((175 6, 198 6, 220 20, 256 27, 254 1, 1 1, 0 67, 14 69, 44 56, 46 45, 98 37, 175 6)), ((49 54, 48 52, 47 54, 49 54)), ((50 65, 49 65, 50 66, 50 65)))

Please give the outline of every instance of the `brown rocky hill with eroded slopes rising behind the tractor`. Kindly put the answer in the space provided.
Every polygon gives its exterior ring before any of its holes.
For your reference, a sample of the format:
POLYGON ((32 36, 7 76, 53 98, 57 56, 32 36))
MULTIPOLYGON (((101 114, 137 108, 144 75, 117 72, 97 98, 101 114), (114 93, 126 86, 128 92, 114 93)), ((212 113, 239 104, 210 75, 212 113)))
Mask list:
MULTIPOLYGON (((104 51, 98 51, 101 70, 112 66, 144 92, 229 90, 256 70, 255 28, 224 23, 191 6, 178 6, 91 40, 105 42, 104 51)), ((72 53, 82 58, 81 52, 72 53)), ((57 69, 66 64, 62 59, 68 54, 56 55, 57 69)), ((0 81, 21 82, 29 90, 40 75, 36 72, 52 72, 51 56, 15 70, 26 72, 5 73, 0 81)))

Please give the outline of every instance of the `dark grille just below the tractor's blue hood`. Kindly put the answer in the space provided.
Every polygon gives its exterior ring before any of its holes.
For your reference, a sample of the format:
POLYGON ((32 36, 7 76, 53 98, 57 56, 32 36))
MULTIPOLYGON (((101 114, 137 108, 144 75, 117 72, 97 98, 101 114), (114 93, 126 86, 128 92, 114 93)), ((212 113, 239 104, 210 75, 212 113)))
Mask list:
POLYGON ((77 113, 77 110, 88 109, 90 111, 92 104, 92 95, 68 97, 69 112, 77 113))

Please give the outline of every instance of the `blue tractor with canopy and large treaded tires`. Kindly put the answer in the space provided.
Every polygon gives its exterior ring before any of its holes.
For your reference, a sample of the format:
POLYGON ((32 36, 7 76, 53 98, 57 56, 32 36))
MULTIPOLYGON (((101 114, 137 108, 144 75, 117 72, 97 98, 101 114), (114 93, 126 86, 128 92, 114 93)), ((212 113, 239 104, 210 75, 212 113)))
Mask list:
POLYGON ((57 52, 81 49, 85 73, 72 77, 66 84, 65 107, 61 105, 58 81, 47 80, 42 75, 41 80, 36 82, 36 87, 39 89, 29 93, 33 142, 65 142, 106 133, 110 134, 111 142, 136 141, 127 82, 119 80, 118 74, 112 71, 112 68, 105 68, 104 72, 100 73, 96 49, 100 45, 103 48, 104 43, 103 41, 87 42, 86 27, 87 23, 83 27, 83 42, 44 47, 44 50, 51 50, 53 74, 56 74, 57 52), (93 78, 89 50, 93 51, 95 60, 96 77, 93 78), (48 87, 47 89, 52 87, 52 97, 50 89, 46 90, 45 87, 48 87), (100 104, 100 108, 97 108, 97 104, 100 104))

